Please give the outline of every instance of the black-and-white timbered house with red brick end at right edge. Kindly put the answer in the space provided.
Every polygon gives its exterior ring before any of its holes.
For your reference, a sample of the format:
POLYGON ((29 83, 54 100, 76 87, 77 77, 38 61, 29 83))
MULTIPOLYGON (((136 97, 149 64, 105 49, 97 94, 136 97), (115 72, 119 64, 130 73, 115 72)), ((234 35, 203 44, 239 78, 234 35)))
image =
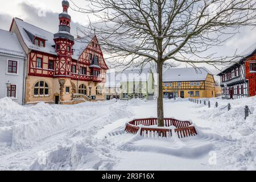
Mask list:
POLYGON ((222 98, 236 99, 256 95, 256 44, 250 46, 236 63, 218 74, 222 98))

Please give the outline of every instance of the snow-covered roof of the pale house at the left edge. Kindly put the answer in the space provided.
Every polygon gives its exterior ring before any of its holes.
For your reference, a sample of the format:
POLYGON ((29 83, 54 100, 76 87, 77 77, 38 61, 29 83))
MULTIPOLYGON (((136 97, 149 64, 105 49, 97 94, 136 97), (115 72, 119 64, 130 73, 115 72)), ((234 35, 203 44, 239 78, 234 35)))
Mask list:
POLYGON ((14 32, 0 29, 0 53, 26 57, 14 32))

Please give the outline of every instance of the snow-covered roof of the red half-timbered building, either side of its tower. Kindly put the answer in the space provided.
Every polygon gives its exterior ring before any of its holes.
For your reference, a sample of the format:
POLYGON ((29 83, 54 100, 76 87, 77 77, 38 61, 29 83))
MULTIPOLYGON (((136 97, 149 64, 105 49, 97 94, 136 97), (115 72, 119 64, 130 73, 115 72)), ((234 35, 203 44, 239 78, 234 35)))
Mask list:
MULTIPOLYGON (((14 20, 19 28, 19 32, 24 40, 24 43, 28 48, 35 51, 41 51, 41 52, 49 53, 52 55, 57 55, 57 53, 55 52, 55 47, 53 47, 55 46, 55 42, 53 40, 54 38, 53 33, 43 30, 42 28, 36 27, 30 23, 24 22, 21 19, 14 18, 14 20), (35 46, 32 43, 31 36, 35 36, 35 37, 46 40, 46 47, 35 46)), ((72 59, 78 60, 81 53, 88 46, 89 43, 90 43, 89 38, 75 39, 75 44, 73 46, 73 49, 75 49, 75 52, 72 55, 72 59)))

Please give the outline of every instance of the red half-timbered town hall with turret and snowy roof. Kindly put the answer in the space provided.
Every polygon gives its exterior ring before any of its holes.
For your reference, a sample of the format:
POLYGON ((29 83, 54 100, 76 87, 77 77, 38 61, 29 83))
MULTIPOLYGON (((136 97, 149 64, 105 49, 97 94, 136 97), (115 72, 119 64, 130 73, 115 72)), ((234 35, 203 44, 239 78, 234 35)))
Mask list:
MULTIPOLYGON (((68 1, 62 2, 59 32, 14 18, 15 32, 28 57, 25 102, 36 104, 76 104, 89 100, 105 100, 104 83, 108 66, 96 35, 74 38, 70 34, 71 16, 68 1)), ((57 25, 56 25, 57 26, 57 25)))

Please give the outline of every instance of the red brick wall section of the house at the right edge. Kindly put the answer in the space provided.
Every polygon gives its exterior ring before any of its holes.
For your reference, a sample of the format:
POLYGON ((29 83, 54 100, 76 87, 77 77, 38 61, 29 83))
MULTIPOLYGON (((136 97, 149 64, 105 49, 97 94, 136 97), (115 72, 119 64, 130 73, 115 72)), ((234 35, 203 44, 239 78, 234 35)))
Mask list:
POLYGON ((250 73, 250 63, 256 63, 256 53, 245 61, 246 80, 249 80, 249 96, 256 96, 256 73, 250 73))

